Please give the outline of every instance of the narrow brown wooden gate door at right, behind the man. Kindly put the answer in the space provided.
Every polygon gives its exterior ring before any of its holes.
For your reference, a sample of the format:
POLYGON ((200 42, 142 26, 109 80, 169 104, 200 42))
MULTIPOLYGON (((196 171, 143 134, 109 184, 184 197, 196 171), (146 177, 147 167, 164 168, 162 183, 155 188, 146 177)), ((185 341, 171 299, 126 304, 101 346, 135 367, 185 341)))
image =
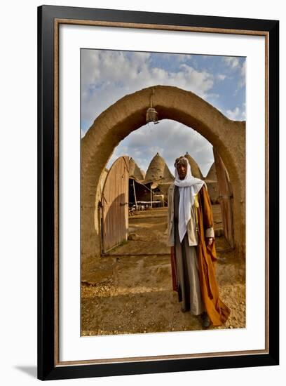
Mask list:
POLYGON ((229 180, 229 173, 224 166, 222 158, 213 148, 214 164, 217 171, 217 185, 219 188, 219 204, 222 211, 222 226, 224 228, 224 237, 231 248, 234 248, 233 231, 233 191, 229 180))

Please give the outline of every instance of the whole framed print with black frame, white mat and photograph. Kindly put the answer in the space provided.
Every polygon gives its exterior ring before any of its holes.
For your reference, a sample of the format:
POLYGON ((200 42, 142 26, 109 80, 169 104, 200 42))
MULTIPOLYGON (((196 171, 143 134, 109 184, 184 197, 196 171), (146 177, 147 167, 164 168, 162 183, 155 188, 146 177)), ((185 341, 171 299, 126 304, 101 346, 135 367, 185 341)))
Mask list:
POLYGON ((279 22, 38 9, 38 377, 279 363, 279 22))

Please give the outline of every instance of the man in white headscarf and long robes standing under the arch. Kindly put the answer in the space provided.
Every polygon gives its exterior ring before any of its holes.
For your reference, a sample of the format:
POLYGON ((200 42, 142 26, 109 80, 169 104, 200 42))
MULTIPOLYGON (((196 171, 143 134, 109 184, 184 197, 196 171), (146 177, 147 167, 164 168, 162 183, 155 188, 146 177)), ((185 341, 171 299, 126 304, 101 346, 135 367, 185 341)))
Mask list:
POLYGON ((175 182, 168 192, 168 245, 182 312, 200 315, 203 328, 224 324, 230 310, 219 299, 212 205, 205 182, 191 175, 185 157, 175 161, 175 182))

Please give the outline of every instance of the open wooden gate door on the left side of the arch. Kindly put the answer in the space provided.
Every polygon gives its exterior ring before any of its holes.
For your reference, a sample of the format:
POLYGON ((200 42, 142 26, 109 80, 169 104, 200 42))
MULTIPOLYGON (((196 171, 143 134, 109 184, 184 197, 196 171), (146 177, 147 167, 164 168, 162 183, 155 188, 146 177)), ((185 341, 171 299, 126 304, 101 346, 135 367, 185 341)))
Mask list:
POLYGON ((112 164, 102 191, 102 253, 118 246, 128 237, 129 157, 112 164))

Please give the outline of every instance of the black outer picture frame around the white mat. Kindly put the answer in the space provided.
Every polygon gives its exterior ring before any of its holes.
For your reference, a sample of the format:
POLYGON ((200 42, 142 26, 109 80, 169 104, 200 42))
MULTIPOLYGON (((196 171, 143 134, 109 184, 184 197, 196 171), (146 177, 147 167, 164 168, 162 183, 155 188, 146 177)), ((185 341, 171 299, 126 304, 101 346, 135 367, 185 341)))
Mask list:
POLYGON ((95 8, 38 8, 38 378, 40 380, 194 371, 279 364, 279 22, 120 11, 95 8), (69 19, 219 30, 265 32, 268 36, 268 352, 192 359, 58 364, 55 350, 55 20, 69 19))

